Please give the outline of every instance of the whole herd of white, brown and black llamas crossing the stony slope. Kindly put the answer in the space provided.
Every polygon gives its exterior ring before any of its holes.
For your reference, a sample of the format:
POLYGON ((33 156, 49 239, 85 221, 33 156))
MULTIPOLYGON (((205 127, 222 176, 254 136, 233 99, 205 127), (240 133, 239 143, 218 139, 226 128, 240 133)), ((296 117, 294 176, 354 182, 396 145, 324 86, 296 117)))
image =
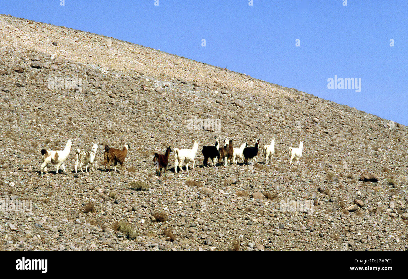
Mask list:
MULTIPOLYGON (((220 139, 215 138, 215 144, 213 146, 203 146, 202 154, 204 156, 203 166, 204 168, 209 167, 208 159, 211 160, 212 165, 217 168, 217 162, 220 166, 228 166, 228 164, 236 165, 238 159, 241 159, 243 164, 248 164, 248 159, 253 160, 255 164, 257 163, 257 155, 259 149, 259 141, 257 139, 255 146, 248 146, 248 142, 243 143, 239 148, 233 147, 233 140, 226 138, 224 140, 223 146, 220 146, 220 139)), ((88 166, 92 164, 92 171, 94 170, 94 160, 96 156, 96 151, 98 149, 98 144, 92 143, 93 146, 91 151, 81 151, 79 148, 75 151, 75 173, 78 173, 78 165, 82 173, 82 166, 85 166, 85 172, 88 172, 88 166)), ((72 140, 68 140, 65 144, 64 150, 41 150, 41 174, 47 173, 47 166, 49 164, 56 165, 56 173, 58 174, 60 167, 65 170, 65 161, 71 152, 72 140)), ((108 145, 104 147, 104 162, 103 165, 106 170, 111 170, 111 164, 114 164, 115 171, 117 164, 120 164, 121 168, 124 168, 124 160, 126 158, 127 152, 130 149, 129 143, 126 143, 122 149, 111 148, 108 145)), ((174 148, 174 172, 177 173, 177 169, 183 172, 183 166, 186 167, 188 171, 188 166, 191 165, 191 168, 194 169, 195 157, 198 151, 198 142, 195 140, 193 142, 193 148, 188 149, 179 149, 174 148)), ((264 145, 264 158, 265 164, 268 165, 272 163, 272 157, 275 154, 275 139, 271 140, 270 145, 264 145)), ((296 164, 299 164, 299 158, 302 157, 303 151, 303 142, 299 143, 299 147, 289 147, 289 164, 293 165, 293 159, 296 159, 296 164)), ((165 154, 154 153, 153 164, 155 165, 156 175, 160 176, 162 174, 162 169, 164 168, 164 176, 166 176, 166 168, 169 165, 169 156, 170 156, 171 146, 166 148, 165 154)))

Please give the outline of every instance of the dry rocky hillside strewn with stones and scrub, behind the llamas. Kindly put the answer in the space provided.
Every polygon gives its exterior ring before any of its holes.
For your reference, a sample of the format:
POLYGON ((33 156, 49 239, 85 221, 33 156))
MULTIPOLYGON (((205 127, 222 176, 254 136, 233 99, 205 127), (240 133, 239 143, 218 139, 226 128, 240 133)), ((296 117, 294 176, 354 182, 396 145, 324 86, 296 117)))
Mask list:
POLYGON ((407 127, 242 73, 0 15, 0 250, 407 250, 407 127), (204 126, 200 122, 204 122, 204 126), (197 124, 198 123, 198 124, 197 124), (195 125, 197 124, 197 125, 195 125), (213 125, 216 124, 216 125, 213 125), (264 164, 203 168, 214 136, 264 164), (73 140, 67 173, 40 150, 73 140), (153 153, 194 170, 156 177, 153 153), (288 147, 304 142, 300 165, 288 147), (76 148, 96 169, 73 173, 76 148), (104 171, 103 146, 131 149, 104 171), (378 182, 360 181, 373 173, 378 182), (30 212, 13 210, 32 203, 30 212), (311 202, 286 211, 282 202, 311 202), (11 208, 11 209, 10 209, 11 208))

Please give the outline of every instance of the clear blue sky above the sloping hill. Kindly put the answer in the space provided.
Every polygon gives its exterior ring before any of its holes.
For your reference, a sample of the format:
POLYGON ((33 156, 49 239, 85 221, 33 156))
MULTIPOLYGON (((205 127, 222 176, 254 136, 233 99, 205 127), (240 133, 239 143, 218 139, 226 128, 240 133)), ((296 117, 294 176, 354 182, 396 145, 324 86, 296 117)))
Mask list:
POLYGON ((408 125, 407 0, 61 2, 3 0, 0 13, 226 67, 408 125), (335 75, 361 78, 361 92, 328 89, 335 75))

